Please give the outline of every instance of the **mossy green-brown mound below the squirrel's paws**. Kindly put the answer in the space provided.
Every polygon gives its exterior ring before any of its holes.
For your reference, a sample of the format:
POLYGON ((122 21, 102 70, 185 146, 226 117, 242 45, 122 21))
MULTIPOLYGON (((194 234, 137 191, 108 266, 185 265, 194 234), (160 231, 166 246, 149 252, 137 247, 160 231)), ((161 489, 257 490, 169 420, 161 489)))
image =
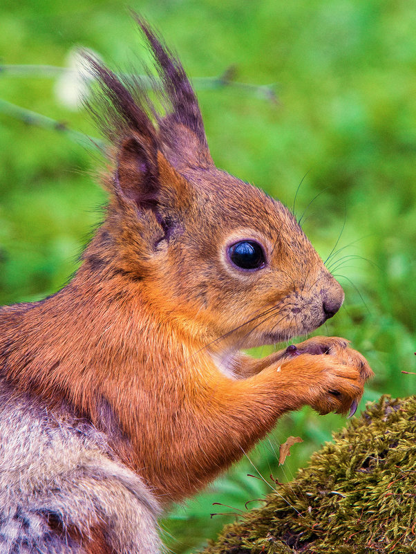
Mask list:
POLYGON ((205 554, 416 552, 416 396, 382 396, 205 554))

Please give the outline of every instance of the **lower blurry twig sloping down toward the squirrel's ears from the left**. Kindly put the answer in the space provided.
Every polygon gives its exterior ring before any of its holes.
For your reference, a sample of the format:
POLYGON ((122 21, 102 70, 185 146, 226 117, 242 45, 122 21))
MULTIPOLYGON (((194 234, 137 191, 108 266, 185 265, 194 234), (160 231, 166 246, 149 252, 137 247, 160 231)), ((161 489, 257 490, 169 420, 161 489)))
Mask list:
POLYGON ((59 133, 64 133, 70 139, 75 140, 75 142, 78 143, 81 142, 82 145, 87 148, 104 148, 104 142, 98 138, 93 138, 79 131, 74 131, 73 129, 70 129, 65 122, 60 122, 55 119, 48 118, 47 116, 42 116, 41 113, 21 108, 20 106, 16 106, 7 100, 3 100, 2 98, 0 98, 0 113, 4 113, 6 116, 23 121, 28 125, 35 125, 36 127, 42 127, 43 129, 53 129, 54 131, 59 131, 59 133))

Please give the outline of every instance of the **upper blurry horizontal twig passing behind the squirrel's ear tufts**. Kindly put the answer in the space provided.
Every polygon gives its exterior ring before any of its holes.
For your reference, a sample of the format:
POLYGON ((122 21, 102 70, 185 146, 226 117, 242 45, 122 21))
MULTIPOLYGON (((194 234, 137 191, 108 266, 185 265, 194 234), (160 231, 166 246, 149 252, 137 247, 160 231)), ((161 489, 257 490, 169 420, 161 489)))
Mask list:
MULTIPOLYGON (((12 77, 60 77, 68 73, 77 74, 76 69, 66 67, 48 66, 48 65, 8 65, 0 64, 0 75, 12 77)), ((126 75, 127 77, 129 75, 126 75)), ((216 77, 193 77, 191 79, 196 90, 214 90, 222 89, 225 86, 243 89, 253 93, 257 98, 277 101, 274 84, 256 85, 251 83, 240 83, 235 80, 236 66, 229 66, 222 75, 216 77)), ((147 75, 140 75, 140 83, 146 88, 151 89, 154 86, 147 75)))

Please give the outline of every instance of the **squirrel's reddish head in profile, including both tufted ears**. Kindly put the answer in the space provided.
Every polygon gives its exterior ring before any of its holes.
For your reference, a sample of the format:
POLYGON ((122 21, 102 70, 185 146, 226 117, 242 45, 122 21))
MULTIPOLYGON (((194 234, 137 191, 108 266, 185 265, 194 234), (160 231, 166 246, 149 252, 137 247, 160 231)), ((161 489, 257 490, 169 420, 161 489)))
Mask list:
POLYGON ((338 311, 341 286, 285 205, 215 167, 182 65, 137 19, 165 113, 138 79, 87 56, 100 85, 101 109, 90 108, 111 140, 112 170, 106 220, 83 270, 140 295, 213 350, 309 333, 338 311))

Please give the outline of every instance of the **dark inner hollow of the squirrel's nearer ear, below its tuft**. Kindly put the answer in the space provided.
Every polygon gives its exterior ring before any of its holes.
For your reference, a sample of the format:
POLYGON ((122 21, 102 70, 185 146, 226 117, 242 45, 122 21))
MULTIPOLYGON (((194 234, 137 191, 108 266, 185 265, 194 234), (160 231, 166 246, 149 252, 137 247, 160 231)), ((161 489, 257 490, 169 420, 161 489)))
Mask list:
POLYGON ((116 185, 122 196, 142 209, 158 203, 158 151, 146 139, 125 138, 117 155, 116 185))

